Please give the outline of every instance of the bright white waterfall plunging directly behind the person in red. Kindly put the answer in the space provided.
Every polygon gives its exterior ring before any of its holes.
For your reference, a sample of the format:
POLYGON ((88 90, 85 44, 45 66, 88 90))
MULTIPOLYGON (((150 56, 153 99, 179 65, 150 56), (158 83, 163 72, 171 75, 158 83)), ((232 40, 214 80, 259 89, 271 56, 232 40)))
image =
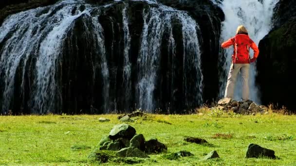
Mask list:
MULTIPOLYGON (((278 0, 213 0, 222 8, 225 20, 222 22, 221 42, 233 37, 239 25, 244 25, 249 33, 250 38, 257 44, 271 30, 273 9, 278 0)), ((253 50, 250 49, 250 56, 253 57, 253 50)), ((220 97, 224 96, 227 82, 227 75, 231 65, 231 55, 233 49, 224 51, 220 58, 220 97)), ((250 100, 260 104, 259 91, 255 85, 256 66, 250 66, 250 100)), ((235 99, 241 98, 241 81, 238 80, 235 89, 235 99)))

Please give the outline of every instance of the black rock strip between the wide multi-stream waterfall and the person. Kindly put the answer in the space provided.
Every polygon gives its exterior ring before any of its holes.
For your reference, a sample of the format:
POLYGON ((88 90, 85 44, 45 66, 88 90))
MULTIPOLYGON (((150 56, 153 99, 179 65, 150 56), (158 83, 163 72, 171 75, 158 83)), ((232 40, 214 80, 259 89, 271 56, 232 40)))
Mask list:
POLYGON ((218 63, 221 22, 224 14, 211 0, 158 0, 179 10, 185 10, 200 25, 202 36, 203 101, 216 99, 219 93, 218 63))

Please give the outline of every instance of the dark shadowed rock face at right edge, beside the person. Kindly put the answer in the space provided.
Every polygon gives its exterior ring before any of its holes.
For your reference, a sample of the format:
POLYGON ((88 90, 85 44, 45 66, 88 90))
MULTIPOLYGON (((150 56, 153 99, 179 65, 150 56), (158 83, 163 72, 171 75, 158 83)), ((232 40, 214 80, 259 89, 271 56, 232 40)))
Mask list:
POLYGON ((259 42, 257 62, 262 104, 277 103, 295 110, 296 1, 280 0, 273 16, 275 27, 259 42), (275 88, 277 87, 277 88, 275 88))

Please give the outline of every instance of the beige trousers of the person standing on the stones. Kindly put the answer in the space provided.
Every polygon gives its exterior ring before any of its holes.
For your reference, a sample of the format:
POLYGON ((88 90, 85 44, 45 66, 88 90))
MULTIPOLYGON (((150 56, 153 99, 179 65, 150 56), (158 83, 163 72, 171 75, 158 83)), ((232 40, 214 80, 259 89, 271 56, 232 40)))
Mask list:
POLYGON ((231 64, 224 95, 225 98, 233 99, 235 83, 240 72, 242 79, 242 100, 249 100, 249 70, 250 64, 231 64))

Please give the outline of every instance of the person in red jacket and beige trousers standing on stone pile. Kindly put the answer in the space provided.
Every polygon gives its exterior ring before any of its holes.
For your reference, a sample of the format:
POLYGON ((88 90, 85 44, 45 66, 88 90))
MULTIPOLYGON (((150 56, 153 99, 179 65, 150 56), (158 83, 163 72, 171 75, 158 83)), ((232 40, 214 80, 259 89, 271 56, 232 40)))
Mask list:
POLYGON ((234 47, 232 54, 232 63, 230 66, 227 85, 225 90, 225 98, 233 99, 234 88, 237 76, 240 72, 242 78, 242 100, 249 100, 249 69, 250 63, 255 62, 259 55, 259 49, 248 35, 248 31, 242 25, 237 29, 234 37, 222 43, 222 48, 234 47), (249 49, 254 50, 253 58, 250 58, 249 49))

